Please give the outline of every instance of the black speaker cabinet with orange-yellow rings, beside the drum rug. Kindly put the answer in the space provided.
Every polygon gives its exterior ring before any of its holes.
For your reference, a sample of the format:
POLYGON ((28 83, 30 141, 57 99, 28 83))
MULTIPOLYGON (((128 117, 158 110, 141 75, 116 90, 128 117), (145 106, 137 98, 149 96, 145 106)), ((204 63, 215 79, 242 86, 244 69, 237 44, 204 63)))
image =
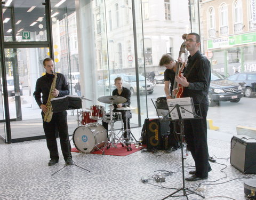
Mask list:
POLYGON ((162 122, 158 118, 145 119, 147 149, 162 150, 168 148, 169 124, 169 121, 162 122))

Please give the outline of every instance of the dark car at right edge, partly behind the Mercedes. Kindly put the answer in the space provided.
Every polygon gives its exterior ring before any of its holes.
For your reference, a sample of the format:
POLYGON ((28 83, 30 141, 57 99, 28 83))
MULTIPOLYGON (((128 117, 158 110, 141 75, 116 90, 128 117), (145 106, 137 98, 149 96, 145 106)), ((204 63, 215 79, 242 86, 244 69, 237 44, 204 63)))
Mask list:
POLYGON ((256 72, 237 73, 227 79, 241 85, 245 97, 256 94, 256 72))

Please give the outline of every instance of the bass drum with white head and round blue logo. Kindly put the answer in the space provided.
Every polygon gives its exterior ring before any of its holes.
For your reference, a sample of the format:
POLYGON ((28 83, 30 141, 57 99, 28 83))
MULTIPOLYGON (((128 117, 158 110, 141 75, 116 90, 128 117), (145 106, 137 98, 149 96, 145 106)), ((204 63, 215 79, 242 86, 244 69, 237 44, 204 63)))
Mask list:
POLYGON ((83 153, 90 153, 105 145, 107 131, 101 124, 89 123, 85 126, 78 126, 73 133, 73 142, 77 150, 83 153))

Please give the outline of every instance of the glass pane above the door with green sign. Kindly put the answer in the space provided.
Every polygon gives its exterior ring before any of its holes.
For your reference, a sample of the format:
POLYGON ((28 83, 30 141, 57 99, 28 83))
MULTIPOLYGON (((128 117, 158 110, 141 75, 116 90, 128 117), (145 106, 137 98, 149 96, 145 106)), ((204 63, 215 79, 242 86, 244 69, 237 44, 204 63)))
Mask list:
POLYGON ((46 41, 45 6, 42 1, 30 4, 15 2, 3 9, 4 41, 46 41))

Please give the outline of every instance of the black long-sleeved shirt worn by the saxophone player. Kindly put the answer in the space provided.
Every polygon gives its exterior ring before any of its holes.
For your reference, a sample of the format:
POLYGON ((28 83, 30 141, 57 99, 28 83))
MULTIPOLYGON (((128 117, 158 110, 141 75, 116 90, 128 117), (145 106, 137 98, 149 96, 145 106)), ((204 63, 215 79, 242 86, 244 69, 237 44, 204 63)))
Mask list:
MULTIPOLYGON (((65 95, 68 95, 69 89, 68 89, 68 83, 66 81, 65 76, 60 73, 56 73, 56 74, 57 74, 57 80, 56 80, 55 88, 60 92, 58 97, 63 97, 65 95)), ((46 73, 44 76, 38 78, 36 81, 36 89, 33 95, 35 96, 35 100, 39 107, 41 106, 41 104, 47 103, 53 78, 54 78, 53 74, 46 73), (41 96, 41 93, 43 94, 43 97, 41 96)))

